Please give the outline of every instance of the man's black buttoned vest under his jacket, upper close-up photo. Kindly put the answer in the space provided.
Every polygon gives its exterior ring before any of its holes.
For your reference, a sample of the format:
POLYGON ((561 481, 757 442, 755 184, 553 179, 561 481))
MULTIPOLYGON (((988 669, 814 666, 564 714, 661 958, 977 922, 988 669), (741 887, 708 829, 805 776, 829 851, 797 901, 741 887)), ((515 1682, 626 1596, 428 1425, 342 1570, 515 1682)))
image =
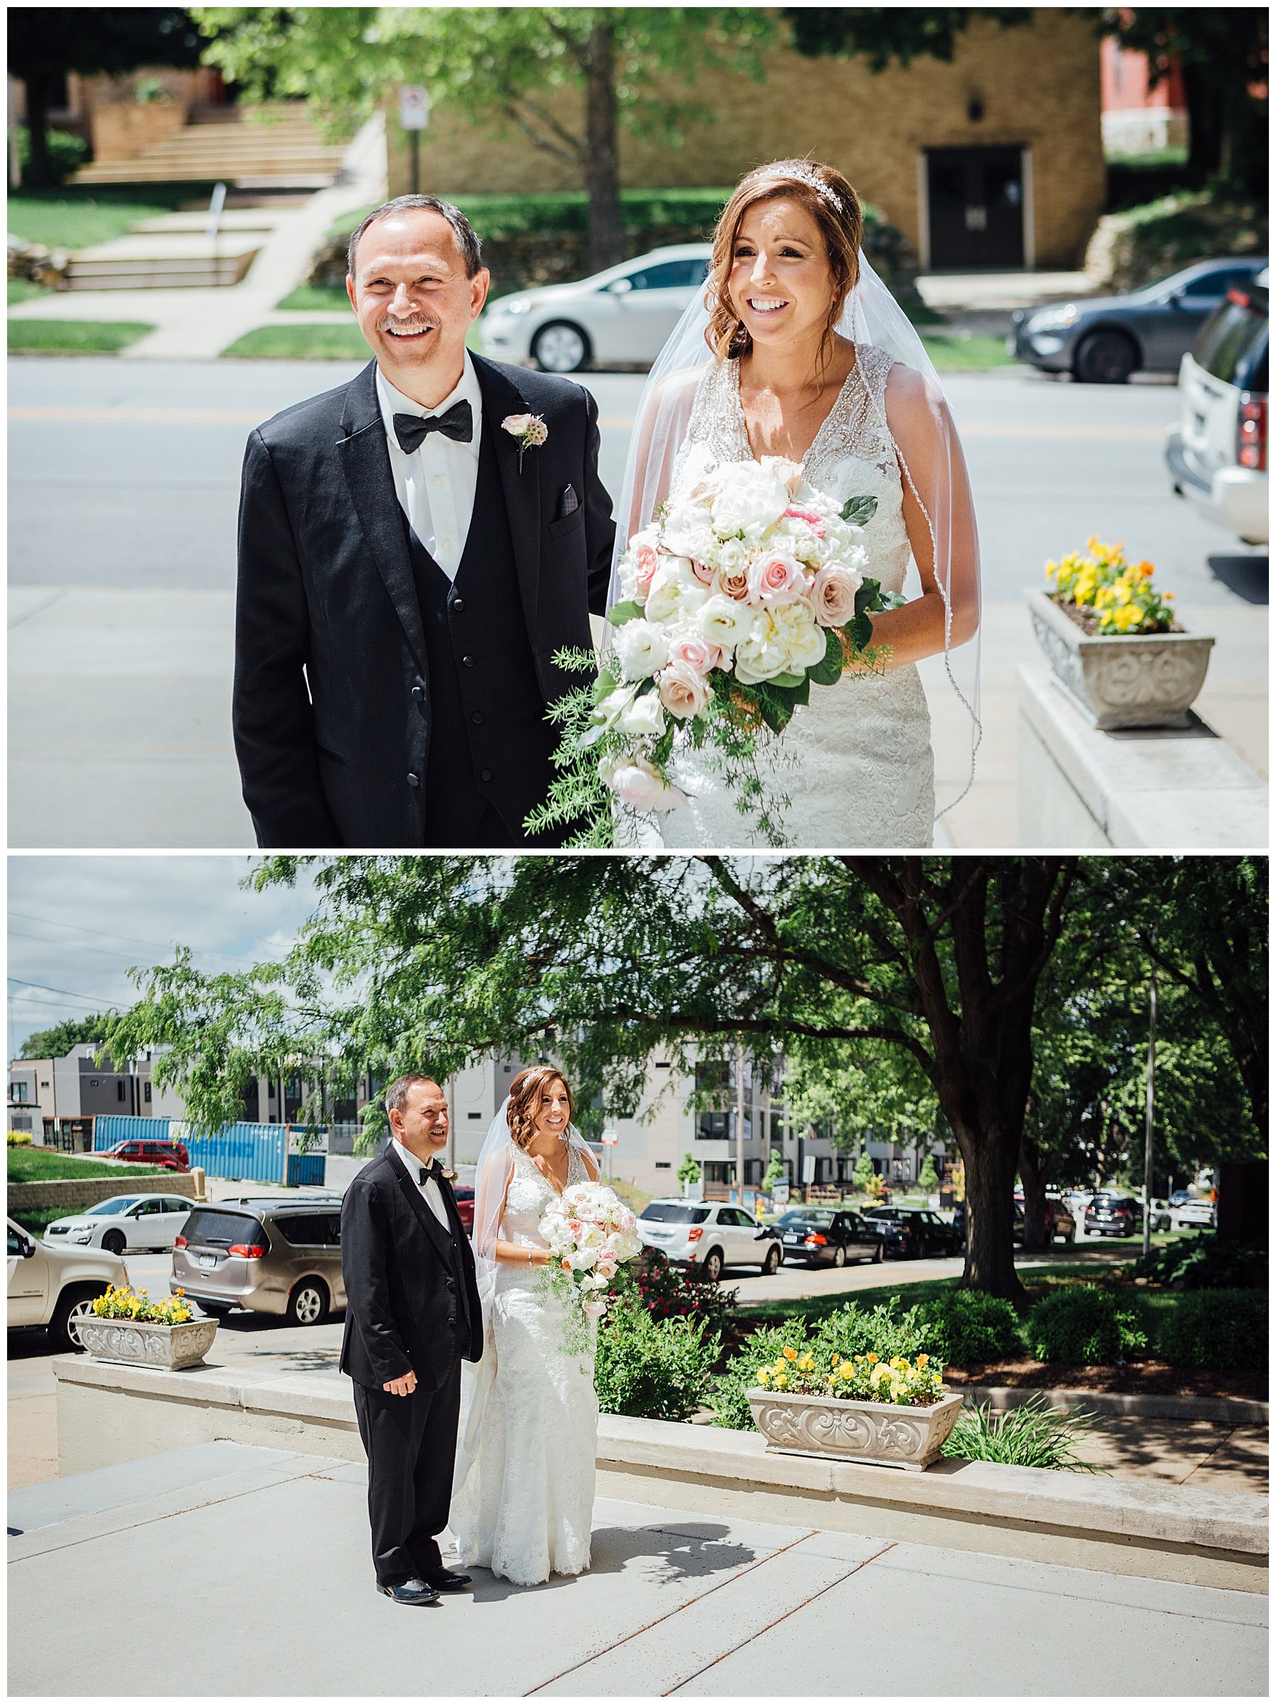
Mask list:
POLYGON ((474 845, 491 806, 508 845, 535 845, 523 818, 545 799, 559 736, 545 721, 486 412, 474 518, 455 581, 411 527, 407 549, 429 666, 424 843, 474 845))

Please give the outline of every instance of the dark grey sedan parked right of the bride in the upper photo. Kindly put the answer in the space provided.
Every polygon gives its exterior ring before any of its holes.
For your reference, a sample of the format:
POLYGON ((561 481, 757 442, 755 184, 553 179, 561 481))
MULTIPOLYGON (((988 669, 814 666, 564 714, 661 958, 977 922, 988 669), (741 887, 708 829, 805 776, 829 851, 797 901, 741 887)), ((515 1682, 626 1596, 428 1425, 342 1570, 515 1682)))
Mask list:
POLYGON ((1012 315, 1012 354, 1043 373, 1072 373, 1083 385, 1123 385, 1131 373, 1177 373, 1228 290, 1247 285, 1266 264, 1266 257, 1235 256, 1198 261, 1124 296, 1019 308, 1012 315))

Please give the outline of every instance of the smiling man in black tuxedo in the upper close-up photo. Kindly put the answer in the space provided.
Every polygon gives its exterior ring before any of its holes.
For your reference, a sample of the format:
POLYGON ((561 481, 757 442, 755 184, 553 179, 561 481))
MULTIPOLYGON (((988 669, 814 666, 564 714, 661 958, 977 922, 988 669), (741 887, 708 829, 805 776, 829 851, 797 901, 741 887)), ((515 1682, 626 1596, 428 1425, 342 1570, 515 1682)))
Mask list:
POLYGON ((368 215, 346 286, 375 361, 249 438, 233 722, 262 847, 560 843, 523 821, 615 525, 589 392, 467 351, 479 261, 434 196, 368 215))

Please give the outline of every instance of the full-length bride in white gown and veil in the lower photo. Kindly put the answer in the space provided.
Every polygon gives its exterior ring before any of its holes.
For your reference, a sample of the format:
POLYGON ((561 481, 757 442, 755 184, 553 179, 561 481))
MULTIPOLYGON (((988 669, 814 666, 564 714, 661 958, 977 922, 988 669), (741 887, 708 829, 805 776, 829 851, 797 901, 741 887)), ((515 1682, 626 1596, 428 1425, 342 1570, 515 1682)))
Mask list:
POLYGON ((547 1290, 550 1254, 537 1230, 566 1188, 598 1181, 571 1118, 572 1094, 554 1067, 520 1072, 475 1176, 484 1353, 462 1373, 450 1525, 467 1566, 523 1586, 589 1566, 593 1344, 583 1355, 564 1346, 564 1309, 547 1290))

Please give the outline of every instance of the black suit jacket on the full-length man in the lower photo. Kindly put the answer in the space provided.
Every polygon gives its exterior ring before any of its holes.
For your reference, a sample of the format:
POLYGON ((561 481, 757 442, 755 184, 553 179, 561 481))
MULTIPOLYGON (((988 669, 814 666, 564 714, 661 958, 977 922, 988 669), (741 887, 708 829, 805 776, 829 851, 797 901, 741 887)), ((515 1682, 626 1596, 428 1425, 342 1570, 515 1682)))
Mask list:
POLYGON ((482 1356, 474 1251, 451 1188, 440 1183, 440 1191, 451 1237, 387 1147, 356 1174, 341 1203, 341 1370, 373 1390, 407 1372, 438 1390, 457 1356, 482 1356))

